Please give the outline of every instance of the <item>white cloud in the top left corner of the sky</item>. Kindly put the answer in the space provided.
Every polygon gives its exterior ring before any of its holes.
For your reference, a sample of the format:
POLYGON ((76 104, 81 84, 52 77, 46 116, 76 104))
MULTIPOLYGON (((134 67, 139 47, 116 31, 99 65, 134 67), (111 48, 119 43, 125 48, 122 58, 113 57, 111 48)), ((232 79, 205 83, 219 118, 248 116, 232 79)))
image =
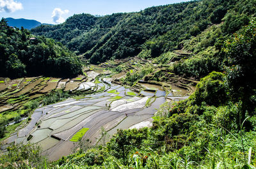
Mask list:
POLYGON ((22 3, 13 0, 0 0, 0 12, 6 11, 8 13, 22 10, 22 3))

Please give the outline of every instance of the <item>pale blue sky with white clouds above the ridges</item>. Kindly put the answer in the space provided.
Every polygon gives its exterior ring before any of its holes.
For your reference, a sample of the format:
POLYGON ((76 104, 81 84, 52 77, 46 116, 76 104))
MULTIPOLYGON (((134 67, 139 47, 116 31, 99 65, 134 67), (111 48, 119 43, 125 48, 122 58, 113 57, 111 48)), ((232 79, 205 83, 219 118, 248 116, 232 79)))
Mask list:
POLYGON ((58 24, 74 14, 109 15, 189 0, 0 0, 0 17, 58 24))

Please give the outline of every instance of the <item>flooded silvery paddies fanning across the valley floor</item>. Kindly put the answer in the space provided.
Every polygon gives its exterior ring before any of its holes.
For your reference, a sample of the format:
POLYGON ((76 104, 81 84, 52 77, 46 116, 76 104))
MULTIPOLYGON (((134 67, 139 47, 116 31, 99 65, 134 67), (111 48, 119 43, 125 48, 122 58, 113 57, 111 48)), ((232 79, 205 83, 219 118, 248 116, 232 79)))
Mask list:
POLYGON ((100 73, 87 74, 88 81, 81 83, 77 90, 92 90, 95 94, 37 108, 29 124, 4 140, 3 147, 13 142, 36 143, 54 161, 76 150, 79 140, 90 140, 87 142, 90 145, 102 142, 102 128, 112 136, 117 129, 151 126, 152 117, 166 99, 185 99, 188 92, 176 87, 168 94, 159 86, 142 84, 150 92, 138 93, 111 84, 108 78, 95 80, 100 73), (100 89, 104 91, 97 92, 100 89))

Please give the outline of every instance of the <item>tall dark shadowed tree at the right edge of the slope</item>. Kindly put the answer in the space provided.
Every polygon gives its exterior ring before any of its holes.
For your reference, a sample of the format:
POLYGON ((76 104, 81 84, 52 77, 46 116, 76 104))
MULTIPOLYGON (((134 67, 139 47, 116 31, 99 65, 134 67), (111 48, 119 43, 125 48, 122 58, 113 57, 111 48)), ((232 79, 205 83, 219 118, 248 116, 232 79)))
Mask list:
POLYGON ((256 22, 250 22, 227 40, 223 51, 230 64, 226 73, 230 96, 235 101, 241 99, 240 119, 243 122, 246 112, 252 114, 255 110, 252 97, 256 89, 256 22))

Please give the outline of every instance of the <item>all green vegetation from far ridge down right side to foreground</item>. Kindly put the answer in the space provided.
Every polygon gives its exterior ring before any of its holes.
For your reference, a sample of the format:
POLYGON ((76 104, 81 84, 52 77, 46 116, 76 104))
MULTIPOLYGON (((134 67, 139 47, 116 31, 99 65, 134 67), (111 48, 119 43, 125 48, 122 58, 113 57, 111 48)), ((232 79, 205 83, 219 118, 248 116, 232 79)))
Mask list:
POLYGON ((255 13, 255 0, 202 0, 104 17, 74 15, 58 26, 33 29, 93 63, 134 55, 153 59, 157 72, 127 73, 126 84, 145 76, 168 82, 174 75, 200 82, 188 99, 161 105, 152 128, 118 130, 108 143, 95 147, 81 142, 76 153, 53 163, 35 161, 35 147, 22 151, 29 145, 13 146, 0 163, 27 161, 18 163, 24 168, 256 168, 255 13))

